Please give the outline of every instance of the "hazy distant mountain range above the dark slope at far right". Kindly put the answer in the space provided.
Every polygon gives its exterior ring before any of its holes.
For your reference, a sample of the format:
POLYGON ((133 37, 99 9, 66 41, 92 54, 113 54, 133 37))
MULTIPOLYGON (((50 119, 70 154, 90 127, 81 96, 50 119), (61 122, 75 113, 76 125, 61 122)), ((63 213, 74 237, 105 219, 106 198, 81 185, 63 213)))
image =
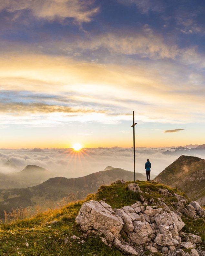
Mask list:
POLYGON ((193 145, 193 148, 189 148, 190 145, 186 147, 177 147, 177 148, 170 148, 170 150, 166 150, 163 154, 164 155, 176 155, 180 156, 182 154, 186 155, 205 155, 205 144, 202 145, 193 145), (196 147, 195 147, 196 146, 196 147), (173 151, 174 150, 174 151, 173 151))

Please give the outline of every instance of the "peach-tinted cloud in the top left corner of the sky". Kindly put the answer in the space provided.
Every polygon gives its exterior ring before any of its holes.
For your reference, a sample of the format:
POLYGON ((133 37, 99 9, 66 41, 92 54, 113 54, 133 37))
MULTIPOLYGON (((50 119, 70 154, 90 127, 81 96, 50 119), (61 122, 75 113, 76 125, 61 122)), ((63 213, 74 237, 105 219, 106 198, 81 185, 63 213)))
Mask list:
POLYGON ((17 12, 31 10, 37 18, 49 21, 73 18, 77 22, 89 22, 99 8, 93 0, 6 0, 1 1, 0 10, 17 12))

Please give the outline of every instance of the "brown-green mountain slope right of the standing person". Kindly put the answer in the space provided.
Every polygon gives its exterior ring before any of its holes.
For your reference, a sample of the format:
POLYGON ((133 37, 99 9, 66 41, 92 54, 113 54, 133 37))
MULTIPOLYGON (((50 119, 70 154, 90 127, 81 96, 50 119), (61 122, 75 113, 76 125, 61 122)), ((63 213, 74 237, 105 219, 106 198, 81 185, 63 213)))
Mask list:
POLYGON ((178 187, 190 198, 205 205, 205 160, 181 155, 166 167, 154 181, 178 187))

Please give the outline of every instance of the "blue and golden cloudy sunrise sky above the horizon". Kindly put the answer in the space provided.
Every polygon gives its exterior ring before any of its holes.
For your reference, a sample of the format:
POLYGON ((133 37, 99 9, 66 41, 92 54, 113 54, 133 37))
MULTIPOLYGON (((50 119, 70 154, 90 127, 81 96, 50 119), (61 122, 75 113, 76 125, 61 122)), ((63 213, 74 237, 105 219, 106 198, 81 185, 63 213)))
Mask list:
POLYGON ((0 148, 203 144, 205 2, 0 0, 0 148))

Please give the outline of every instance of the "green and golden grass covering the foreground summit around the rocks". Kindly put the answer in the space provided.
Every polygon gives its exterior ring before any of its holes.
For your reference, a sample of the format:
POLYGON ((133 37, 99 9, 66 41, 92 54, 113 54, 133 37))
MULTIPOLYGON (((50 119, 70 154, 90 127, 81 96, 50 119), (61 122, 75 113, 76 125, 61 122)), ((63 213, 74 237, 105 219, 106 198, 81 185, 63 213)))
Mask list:
MULTIPOLYGON (((137 183, 143 192, 149 191, 143 194, 147 200, 152 198, 157 200, 161 197, 159 188, 167 188, 169 192, 185 196, 176 188, 157 182, 137 181, 137 183)), ((135 203, 139 197, 139 194, 127 189, 127 184, 112 184, 101 186, 97 194, 88 195, 85 201, 104 199, 113 208, 121 208, 135 203)), ((176 200, 175 197, 164 198, 169 205, 173 205, 176 200)), ((19 220, 11 225, 0 224, 0 255, 124 255, 115 248, 107 247, 99 238, 90 236, 84 238, 85 242, 81 243, 72 237, 83 235, 75 222, 82 203, 83 201, 70 203, 59 210, 39 213, 31 219, 19 220)), ((194 233, 196 230, 195 233, 199 233, 202 240, 205 240, 205 224, 202 219, 192 220, 183 216, 183 221, 186 224, 184 231, 190 230, 194 233)))

